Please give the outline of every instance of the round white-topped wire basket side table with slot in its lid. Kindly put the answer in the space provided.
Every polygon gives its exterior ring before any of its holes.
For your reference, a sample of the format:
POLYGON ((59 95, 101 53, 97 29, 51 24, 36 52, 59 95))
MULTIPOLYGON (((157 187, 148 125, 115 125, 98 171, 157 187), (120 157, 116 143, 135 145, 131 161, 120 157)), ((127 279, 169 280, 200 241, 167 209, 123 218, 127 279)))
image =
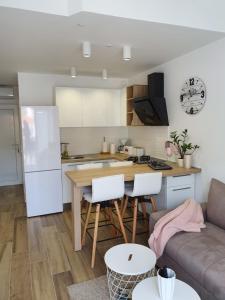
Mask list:
POLYGON ((139 244, 121 244, 105 254, 110 299, 131 299, 134 287, 150 277, 156 263, 155 253, 139 244))

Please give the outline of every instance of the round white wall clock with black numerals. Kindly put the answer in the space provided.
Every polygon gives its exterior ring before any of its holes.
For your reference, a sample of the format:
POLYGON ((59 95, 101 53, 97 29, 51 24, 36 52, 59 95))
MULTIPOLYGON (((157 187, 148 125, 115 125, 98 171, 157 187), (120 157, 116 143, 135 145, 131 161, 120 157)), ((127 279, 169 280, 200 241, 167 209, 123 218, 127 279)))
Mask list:
POLYGON ((189 115, 199 113, 206 102, 206 87, 198 77, 191 77, 185 81, 180 93, 180 103, 189 115))

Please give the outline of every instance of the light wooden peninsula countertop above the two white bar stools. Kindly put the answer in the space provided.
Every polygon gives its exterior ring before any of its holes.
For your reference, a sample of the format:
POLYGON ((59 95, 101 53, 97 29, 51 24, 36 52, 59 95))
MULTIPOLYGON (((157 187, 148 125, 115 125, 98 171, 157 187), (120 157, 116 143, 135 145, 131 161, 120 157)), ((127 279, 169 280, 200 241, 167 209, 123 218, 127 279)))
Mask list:
MULTIPOLYGON (((108 158, 112 158, 112 156, 108 158)), ((124 174, 125 181, 132 181, 134 180, 134 175, 138 173, 162 172, 163 177, 168 177, 196 174, 201 172, 201 169, 199 168, 185 169, 178 167, 175 163, 167 162, 167 164, 171 165, 173 169, 165 171, 155 171, 152 168, 148 167, 148 165, 134 164, 133 166, 129 167, 107 167, 101 169, 68 171, 66 172, 66 175, 77 187, 83 187, 91 185, 93 178, 117 174, 124 174)))

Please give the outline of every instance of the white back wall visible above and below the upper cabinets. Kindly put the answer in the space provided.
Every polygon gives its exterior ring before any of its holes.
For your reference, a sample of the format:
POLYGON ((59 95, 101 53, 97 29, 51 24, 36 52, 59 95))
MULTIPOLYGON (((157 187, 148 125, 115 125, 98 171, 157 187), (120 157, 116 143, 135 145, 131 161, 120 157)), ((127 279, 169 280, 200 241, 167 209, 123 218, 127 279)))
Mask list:
MULTIPOLYGON (((55 87, 123 88, 124 78, 78 76, 75 79, 66 75, 18 73, 19 103, 22 105, 55 105, 55 87)), ((125 97, 124 89, 122 97, 125 97)), ((125 106, 123 107, 125 109, 125 106)), ((101 150, 103 137, 108 142, 118 144, 120 138, 128 137, 126 127, 115 128, 61 128, 61 141, 69 142, 71 154, 96 153, 101 150)))

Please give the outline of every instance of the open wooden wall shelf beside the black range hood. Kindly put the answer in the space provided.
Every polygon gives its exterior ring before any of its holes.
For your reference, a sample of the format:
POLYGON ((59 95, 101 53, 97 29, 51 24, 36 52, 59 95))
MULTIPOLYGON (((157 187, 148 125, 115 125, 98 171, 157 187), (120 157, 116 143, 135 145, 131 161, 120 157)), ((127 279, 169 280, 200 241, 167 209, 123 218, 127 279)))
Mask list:
POLYGON ((127 87, 127 126, 144 125, 134 111, 133 100, 137 97, 147 96, 147 94, 148 94, 147 85, 136 84, 127 87))

